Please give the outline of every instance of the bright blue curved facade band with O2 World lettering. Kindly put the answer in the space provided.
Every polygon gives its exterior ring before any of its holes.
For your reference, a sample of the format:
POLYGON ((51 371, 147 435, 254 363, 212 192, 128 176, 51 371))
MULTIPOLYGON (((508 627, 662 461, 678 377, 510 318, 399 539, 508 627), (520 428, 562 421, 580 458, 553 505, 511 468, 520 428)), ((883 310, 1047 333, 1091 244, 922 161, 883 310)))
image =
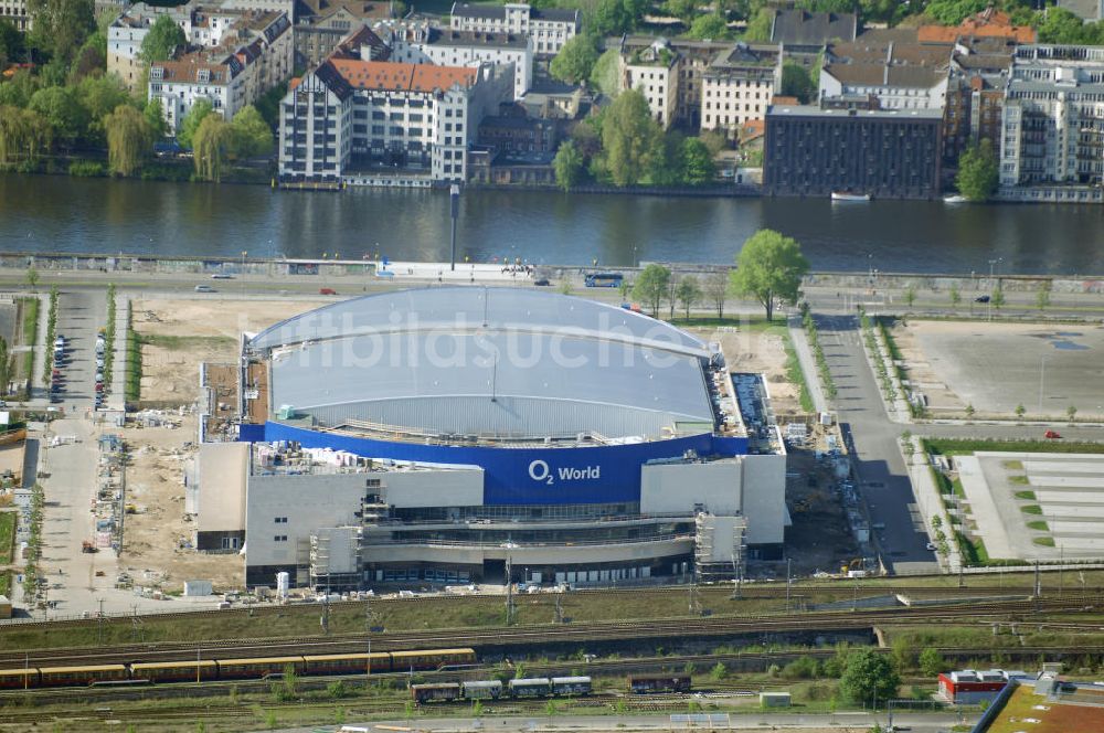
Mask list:
POLYGON ((649 460, 678 458, 687 450, 699 456, 747 453, 747 438, 710 433, 631 445, 501 448, 375 440, 268 422, 242 425, 240 439, 295 440, 307 448, 333 448, 368 458, 479 466, 485 472, 487 506, 635 502, 640 500, 640 466, 649 460))

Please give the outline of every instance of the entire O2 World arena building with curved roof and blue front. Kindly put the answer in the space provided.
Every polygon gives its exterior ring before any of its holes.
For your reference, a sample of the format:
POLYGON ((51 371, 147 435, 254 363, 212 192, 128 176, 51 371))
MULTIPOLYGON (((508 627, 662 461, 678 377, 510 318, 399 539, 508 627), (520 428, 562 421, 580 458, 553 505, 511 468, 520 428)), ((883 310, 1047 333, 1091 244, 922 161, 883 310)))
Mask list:
POLYGON ((193 501, 197 546, 242 551, 250 585, 731 578, 781 554, 766 384, 640 314, 372 295, 243 336, 240 380, 193 501))

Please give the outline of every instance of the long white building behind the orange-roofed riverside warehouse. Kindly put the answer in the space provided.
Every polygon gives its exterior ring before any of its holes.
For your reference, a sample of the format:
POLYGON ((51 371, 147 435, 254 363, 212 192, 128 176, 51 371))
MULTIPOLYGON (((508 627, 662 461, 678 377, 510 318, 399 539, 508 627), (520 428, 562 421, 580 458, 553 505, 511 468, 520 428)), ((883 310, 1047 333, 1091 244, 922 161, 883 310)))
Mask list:
POLYGON ((512 66, 513 98, 533 85, 533 41, 524 33, 439 31, 427 23, 383 23, 376 32, 391 46, 391 61, 438 66, 512 66))

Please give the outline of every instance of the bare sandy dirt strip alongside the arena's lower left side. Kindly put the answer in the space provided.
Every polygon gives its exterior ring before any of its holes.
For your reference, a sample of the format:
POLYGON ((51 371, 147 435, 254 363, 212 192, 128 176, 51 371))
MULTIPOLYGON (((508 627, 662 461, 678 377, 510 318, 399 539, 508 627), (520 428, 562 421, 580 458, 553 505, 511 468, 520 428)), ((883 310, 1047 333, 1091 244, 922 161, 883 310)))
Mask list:
POLYGON ((179 589, 183 581, 191 580, 210 580, 216 588, 241 587, 245 581, 241 557, 181 548, 191 541, 193 530, 184 520, 184 466, 195 455, 189 442, 195 437, 197 417, 169 418, 180 426, 123 431, 130 448, 127 503, 134 504, 137 513, 126 518, 120 570, 129 570, 135 577, 146 570, 158 571, 167 591, 179 589))

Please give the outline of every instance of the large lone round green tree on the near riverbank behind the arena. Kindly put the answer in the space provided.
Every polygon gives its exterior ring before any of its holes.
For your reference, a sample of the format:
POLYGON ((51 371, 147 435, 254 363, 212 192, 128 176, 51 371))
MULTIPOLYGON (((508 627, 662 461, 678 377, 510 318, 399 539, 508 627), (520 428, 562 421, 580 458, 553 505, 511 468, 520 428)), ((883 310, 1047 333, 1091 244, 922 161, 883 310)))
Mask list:
POLYGON ((766 319, 772 320, 776 300, 797 302, 802 277, 807 272, 809 263, 794 238, 760 230, 744 242, 736 257, 732 290, 754 297, 766 309, 766 319))

